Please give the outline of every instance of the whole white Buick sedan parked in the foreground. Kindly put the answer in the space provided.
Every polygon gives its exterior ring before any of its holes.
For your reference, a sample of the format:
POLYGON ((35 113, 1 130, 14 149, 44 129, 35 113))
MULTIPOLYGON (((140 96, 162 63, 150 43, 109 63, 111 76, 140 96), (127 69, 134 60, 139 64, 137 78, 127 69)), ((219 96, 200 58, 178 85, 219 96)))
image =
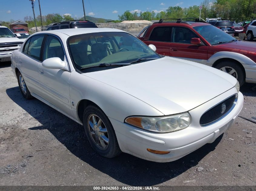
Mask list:
POLYGON ((98 154, 174 161, 231 127, 244 97, 233 76, 152 49, 116 29, 43 31, 12 53, 12 71, 23 97, 83 125, 98 154))

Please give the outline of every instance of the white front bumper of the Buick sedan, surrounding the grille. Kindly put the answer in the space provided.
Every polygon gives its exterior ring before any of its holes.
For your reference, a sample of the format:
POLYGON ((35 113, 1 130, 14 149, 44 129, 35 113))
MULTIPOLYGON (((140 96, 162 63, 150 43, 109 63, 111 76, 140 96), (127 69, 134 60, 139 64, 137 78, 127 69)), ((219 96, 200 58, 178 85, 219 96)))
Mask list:
POLYGON ((235 88, 213 98, 199 107, 190 110, 192 122, 189 127, 176 132, 154 133, 122 123, 115 119, 110 121, 115 129, 116 137, 121 151, 136 157, 155 162, 175 161, 205 145, 212 143, 234 123, 241 112, 244 97, 241 92, 235 107, 221 120, 210 126, 201 127, 201 115, 212 106, 220 103, 227 97, 237 93, 235 88), (158 151, 170 151, 168 154, 154 154, 147 148, 158 151))

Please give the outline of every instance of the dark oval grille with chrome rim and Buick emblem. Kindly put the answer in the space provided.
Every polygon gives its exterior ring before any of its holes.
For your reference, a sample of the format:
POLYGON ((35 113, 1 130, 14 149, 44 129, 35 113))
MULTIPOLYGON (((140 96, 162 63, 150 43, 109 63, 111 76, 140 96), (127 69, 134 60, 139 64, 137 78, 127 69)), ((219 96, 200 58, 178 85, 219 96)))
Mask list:
POLYGON ((222 116, 231 110, 232 106, 235 103, 237 94, 228 97, 227 99, 223 100, 222 102, 218 103, 211 109, 207 110, 200 118, 200 125, 201 126, 208 126, 211 123, 217 121, 222 116), (225 110, 224 110, 225 106, 225 110), (224 110, 224 111, 223 111, 224 110))

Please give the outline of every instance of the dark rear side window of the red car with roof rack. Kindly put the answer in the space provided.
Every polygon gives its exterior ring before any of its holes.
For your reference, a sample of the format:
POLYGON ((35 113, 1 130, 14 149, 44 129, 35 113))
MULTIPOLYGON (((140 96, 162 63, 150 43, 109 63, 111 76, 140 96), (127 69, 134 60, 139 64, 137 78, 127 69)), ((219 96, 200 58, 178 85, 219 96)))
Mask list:
POLYGON ((156 27, 153 29, 149 40, 160 42, 171 42, 172 27, 156 27))

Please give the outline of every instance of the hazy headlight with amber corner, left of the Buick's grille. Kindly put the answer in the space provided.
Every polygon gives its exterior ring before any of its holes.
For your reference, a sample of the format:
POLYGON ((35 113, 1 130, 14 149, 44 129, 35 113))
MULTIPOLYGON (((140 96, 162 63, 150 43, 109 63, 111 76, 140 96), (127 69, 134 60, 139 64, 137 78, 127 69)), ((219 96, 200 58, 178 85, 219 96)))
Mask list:
POLYGON ((152 132, 166 133, 184 129, 191 123, 188 112, 162 117, 132 116, 125 123, 152 132))

